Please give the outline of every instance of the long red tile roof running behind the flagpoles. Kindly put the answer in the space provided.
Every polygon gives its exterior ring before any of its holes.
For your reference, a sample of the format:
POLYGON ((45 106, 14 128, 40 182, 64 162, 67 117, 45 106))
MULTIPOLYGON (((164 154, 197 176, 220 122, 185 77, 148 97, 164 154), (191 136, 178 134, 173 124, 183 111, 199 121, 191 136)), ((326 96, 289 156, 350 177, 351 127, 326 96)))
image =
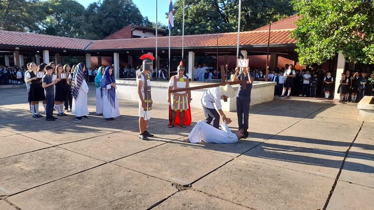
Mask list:
MULTIPOLYGON (((291 30, 272 30, 270 36, 270 44, 294 44, 295 39, 290 38, 291 30)), ((240 45, 266 45, 268 44, 268 34, 266 31, 240 32, 240 45)), ((217 38, 219 46, 236 46, 237 32, 232 33, 216 33, 216 34, 199 34, 186 35, 185 47, 215 47, 217 46, 217 38)), ((141 39, 115 39, 115 40, 95 40, 88 50, 104 50, 104 49, 139 49, 154 48, 155 38, 141 39)), ((163 36, 157 39, 159 48, 168 48, 169 37, 163 36)), ((171 37, 171 47, 182 47, 182 36, 171 37)))

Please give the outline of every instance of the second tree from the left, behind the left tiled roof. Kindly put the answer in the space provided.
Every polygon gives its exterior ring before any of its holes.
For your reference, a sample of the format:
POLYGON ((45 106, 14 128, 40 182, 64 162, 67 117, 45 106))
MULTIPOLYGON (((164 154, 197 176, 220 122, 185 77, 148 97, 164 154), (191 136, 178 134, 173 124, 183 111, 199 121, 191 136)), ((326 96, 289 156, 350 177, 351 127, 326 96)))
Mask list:
POLYGON ((82 15, 85 7, 75 0, 47 0, 41 2, 45 19, 35 32, 49 35, 84 38, 82 15))

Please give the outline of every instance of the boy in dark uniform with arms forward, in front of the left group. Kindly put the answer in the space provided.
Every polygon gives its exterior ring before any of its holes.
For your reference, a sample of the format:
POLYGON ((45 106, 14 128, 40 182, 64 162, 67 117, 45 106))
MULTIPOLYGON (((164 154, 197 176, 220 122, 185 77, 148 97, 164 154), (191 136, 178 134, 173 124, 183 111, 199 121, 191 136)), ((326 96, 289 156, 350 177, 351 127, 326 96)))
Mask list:
POLYGON ((54 104, 54 84, 56 84, 61 79, 58 78, 55 81, 52 81, 53 68, 50 65, 44 67, 46 74, 43 76, 44 92, 47 98, 47 109, 46 109, 46 120, 55 121, 57 118, 53 116, 53 104, 54 104))

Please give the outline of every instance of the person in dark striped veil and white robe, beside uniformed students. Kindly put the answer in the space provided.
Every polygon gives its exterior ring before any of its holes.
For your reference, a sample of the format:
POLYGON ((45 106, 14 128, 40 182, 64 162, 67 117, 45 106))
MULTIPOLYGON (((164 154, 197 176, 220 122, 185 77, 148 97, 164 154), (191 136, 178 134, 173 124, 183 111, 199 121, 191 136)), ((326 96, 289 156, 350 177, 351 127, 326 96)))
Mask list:
POLYGON ((75 67, 71 84, 71 95, 73 96, 71 113, 75 114, 77 121, 88 119, 87 93, 89 88, 85 81, 85 65, 83 63, 79 63, 75 67))

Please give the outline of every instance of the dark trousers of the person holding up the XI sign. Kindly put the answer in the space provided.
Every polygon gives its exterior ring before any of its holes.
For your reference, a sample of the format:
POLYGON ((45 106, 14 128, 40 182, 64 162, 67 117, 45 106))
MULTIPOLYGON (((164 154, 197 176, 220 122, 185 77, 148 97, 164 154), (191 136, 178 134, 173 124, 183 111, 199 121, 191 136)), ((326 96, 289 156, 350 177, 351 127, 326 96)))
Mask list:
POLYGON ((239 96, 237 97, 237 114, 239 129, 248 130, 249 120, 249 104, 251 97, 239 96))

